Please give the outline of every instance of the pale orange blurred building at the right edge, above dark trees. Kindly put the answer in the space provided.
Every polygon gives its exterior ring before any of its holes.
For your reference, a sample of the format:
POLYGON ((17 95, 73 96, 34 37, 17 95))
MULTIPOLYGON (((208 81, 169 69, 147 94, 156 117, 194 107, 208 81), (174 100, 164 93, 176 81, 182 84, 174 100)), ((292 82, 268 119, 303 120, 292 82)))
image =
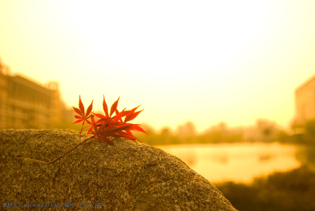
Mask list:
POLYGON ((315 76, 296 89, 295 99, 297 111, 295 124, 304 124, 315 119, 315 76))

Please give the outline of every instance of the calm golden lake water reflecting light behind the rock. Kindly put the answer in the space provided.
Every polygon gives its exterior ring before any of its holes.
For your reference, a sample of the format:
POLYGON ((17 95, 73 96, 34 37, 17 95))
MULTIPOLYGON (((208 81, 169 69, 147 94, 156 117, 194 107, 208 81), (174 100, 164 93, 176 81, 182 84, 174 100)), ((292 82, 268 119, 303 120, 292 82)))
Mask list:
POLYGON ((183 160, 211 183, 251 182, 254 177, 301 166, 300 147, 280 143, 187 144, 157 146, 183 160))

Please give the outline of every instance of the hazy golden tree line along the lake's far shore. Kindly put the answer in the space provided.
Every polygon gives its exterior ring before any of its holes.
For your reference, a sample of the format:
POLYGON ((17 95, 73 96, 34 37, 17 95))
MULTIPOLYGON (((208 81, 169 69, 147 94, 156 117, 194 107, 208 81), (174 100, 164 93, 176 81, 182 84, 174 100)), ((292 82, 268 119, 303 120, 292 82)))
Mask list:
POLYGON ((149 125, 142 125, 142 127, 150 136, 139 132, 135 132, 135 136, 149 145, 272 142, 287 135, 267 120, 258 120, 252 127, 238 128, 228 128, 226 123, 221 122, 199 134, 194 123, 190 121, 179 125, 175 132, 168 127, 162 128, 159 132, 149 125))

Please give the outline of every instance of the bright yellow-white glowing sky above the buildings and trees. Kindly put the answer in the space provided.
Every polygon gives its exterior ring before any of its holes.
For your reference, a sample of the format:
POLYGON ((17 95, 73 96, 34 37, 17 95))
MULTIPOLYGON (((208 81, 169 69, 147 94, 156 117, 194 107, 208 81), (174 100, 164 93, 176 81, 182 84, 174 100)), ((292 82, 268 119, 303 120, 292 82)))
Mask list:
POLYGON ((134 123, 198 131, 269 119, 288 127, 314 75, 315 1, 1 0, 0 57, 11 74, 59 81, 101 109, 141 105, 134 123))

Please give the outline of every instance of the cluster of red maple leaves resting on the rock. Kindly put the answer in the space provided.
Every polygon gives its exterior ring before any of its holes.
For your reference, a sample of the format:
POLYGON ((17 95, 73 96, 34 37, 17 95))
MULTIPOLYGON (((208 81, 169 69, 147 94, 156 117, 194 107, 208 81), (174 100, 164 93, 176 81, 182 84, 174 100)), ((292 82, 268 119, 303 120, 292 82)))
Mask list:
MULTIPOLYGON (((114 137, 114 138, 128 138, 130 140, 136 141, 137 138, 132 135, 131 130, 137 130, 140 132, 143 132, 145 134, 146 131, 144 131, 139 124, 131 124, 131 123, 127 123, 128 121, 135 119, 138 114, 143 111, 135 111, 139 106, 131 109, 131 110, 125 110, 123 109, 121 112, 119 112, 117 110, 117 104, 118 104, 118 100, 120 97, 118 97, 118 99, 112 104, 110 113, 108 113, 108 107, 107 104, 105 102, 105 97, 103 95, 103 110, 105 112, 105 115, 102 114, 95 114, 92 112, 92 108, 93 108, 93 100, 92 103, 89 105, 88 109, 84 110, 84 106, 83 103, 81 101, 81 96, 79 96, 79 108, 74 108, 74 111, 78 114, 75 115, 74 117, 76 119, 78 119, 77 121, 75 121, 74 123, 79 123, 82 122, 82 129, 80 131, 80 140, 81 140, 81 133, 83 130, 83 125, 84 123, 88 123, 90 126, 90 128, 88 129, 88 134, 93 134, 94 137, 92 138, 92 141, 94 141, 95 139, 97 139, 97 141, 99 142, 105 142, 108 144, 112 144, 115 145, 108 137, 114 137), (115 113, 115 116, 112 117, 112 115, 115 113), (97 121, 95 121, 95 116, 100 118, 97 121), (123 117, 124 120, 122 119, 123 117), (89 120, 90 119, 90 120, 89 120)), ((73 124, 74 124, 73 123, 73 124)), ((89 127, 89 126, 87 126, 89 127)), ((85 127, 84 127, 85 128, 85 127)), ((149 134, 147 134, 149 135, 149 134)), ((139 140, 138 140, 139 141, 139 140)))

